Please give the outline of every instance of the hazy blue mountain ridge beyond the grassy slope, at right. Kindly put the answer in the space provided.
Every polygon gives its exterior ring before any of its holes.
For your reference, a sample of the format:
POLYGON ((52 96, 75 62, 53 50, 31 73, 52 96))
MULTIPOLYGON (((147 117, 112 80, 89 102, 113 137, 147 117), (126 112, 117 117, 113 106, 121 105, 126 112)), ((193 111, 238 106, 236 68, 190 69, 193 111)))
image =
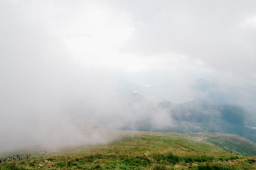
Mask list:
POLYGON ((256 130, 247 127, 247 111, 239 106, 216 105, 208 101, 191 101, 178 105, 165 101, 159 103, 159 106, 166 109, 176 123, 175 127, 164 130, 232 133, 256 142, 256 130))

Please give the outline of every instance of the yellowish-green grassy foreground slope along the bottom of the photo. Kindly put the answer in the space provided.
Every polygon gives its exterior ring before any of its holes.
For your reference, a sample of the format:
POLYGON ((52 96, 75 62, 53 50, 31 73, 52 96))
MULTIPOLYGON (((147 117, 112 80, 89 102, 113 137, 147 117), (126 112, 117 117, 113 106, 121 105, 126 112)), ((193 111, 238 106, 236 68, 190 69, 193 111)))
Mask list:
POLYGON ((209 141, 219 136, 124 131, 107 145, 35 154, 0 169, 256 169, 256 157, 228 153, 209 141))

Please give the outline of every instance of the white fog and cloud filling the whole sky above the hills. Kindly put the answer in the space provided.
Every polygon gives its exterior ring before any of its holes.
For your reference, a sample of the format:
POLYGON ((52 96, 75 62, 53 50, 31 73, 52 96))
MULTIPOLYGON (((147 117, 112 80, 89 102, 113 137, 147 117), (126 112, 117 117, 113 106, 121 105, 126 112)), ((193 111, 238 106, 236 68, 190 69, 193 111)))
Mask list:
POLYGON ((138 122, 169 127, 161 101, 233 104, 255 122, 255 8, 1 1, 0 154, 109 142, 105 130, 138 122))

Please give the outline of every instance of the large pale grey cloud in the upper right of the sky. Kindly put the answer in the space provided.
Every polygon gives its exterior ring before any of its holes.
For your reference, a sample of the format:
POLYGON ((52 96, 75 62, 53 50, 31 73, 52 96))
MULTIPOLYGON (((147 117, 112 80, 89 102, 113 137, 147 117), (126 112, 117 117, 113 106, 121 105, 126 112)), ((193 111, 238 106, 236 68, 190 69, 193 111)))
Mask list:
POLYGON ((255 72, 251 64, 255 63, 254 33, 240 28, 240 23, 254 13, 254 2, 250 3, 157 3, 159 12, 137 27, 124 49, 147 55, 174 52, 203 60, 207 67, 223 72, 255 72))

